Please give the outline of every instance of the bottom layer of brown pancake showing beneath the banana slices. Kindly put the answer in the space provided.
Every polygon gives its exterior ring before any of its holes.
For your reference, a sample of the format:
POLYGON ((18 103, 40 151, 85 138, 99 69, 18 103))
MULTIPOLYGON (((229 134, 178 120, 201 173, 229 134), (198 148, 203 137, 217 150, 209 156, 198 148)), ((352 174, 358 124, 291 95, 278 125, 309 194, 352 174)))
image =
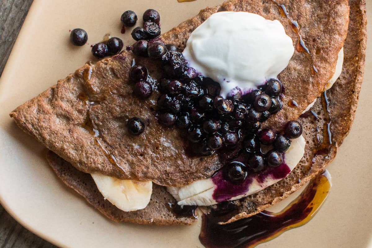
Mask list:
MULTIPOLYGON (((343 71, 333 87, 327 91, 328 99, 330 99, 329 115, 326 111, 327 106, 323 106, 325 102, 320 97, 311 109, 317 114, 318 118, 315 119, 314 115, 307 113, 300 119, 304 126, 303 135, 308 141, 308 144, 306 146, 305 155, 299 165, 288 177, 281 180, 279 183, 247 197, 243 202, 236 201, 235 203, 239 206, 238 212, 240 213, 233 216, 230 221, 260 212, 264 208, 279 202, 289 196, 293 191, 299 189, 299 187, 304 185, 314 175, 318 174, 318 172, 322 171, 325 165, 334 159, 337 148, 342 144, 343 139, 349 133, 355 115, 360 86, 363 80, 366 49, 365 1, 350 0, 349 4, 350 23, 344 44, 343 71), (326 126, 324 124, 327 123, 331 123, 331 138, 327 133, 324 133, 324 131, 326 131, 326 129, 324 129, 326 126), (317 128, 319 131, 316 130, 317 128), (319 135, 319 142, 316 138, 317 134, 319 135), (329 139, 331 139, 332 144, 328 142, 329 139)), ((149 218, 146 217, 145 213, 150 216, 154 214, 151 212, 153 205, 150 204, 147 208, 138 210, 142 215, 135 217, 133 217, 133 213, 138 211, 122 212, 108 201, 105 201, 103 206, 97 206, 97 204, 94 203, 101 200, 102 195, 94 191, 96 190, 96 185, 89 174, 84 174, 74 169, 74 167, 61 158, 58 158, 54 153, 49 153, 48 161, 49 165, 54 168, 58 177, 60 177, 64 183, 73 187, 79 194, 88 199, 90 203, 93 203, 93 206, 97 207, 97 209, 110 219, 126 221, 130 219, 130 222, 144 223, 145 221, 143 219, 149 218), (64 173, 62 173, 63 170, 71 171, 68 175, 80 176, 66 177, 64 173), (85 175, 84 179, 79 181, 78 178, 83 178, 83 175, 85 175), (87 184, 85 185, 84 183, 87 184), (94 193, 92 193, 92 191, 94 193), (113 209, 116 210, 113 211, 113 209), (121 218, 116 217, 120 214, 122 215, 121 218)), ((156 189, 154 188, 154 194, 157 189, 158 187, 156 189)), ((164 208, 164 206, 167 206, 167 202, 168 200, 160 200, 157 204, 159 204, 159 209, 164 211, 167 218, 172 220, 173 216, 166 212, 169 211, 169 208, 164 208)), ((209 209, 209 207, 203 208, 204 211, 209 211, 209 209)), ((154 215, 154 221, 152 223, 163 225, 164 222, 157 222, 158 219, 155 218, 155 216, 157 215, 154 215)), ((192 220, 193 218, 190 218, 189 221, 174 222, 174 224, 190 224, 192 220)))

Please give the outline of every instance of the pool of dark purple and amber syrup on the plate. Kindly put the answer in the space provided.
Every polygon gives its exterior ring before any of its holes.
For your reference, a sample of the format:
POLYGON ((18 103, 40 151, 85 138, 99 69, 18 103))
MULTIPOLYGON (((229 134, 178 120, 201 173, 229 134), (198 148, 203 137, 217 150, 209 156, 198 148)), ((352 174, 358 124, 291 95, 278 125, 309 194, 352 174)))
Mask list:
POLYGON ((306 189, 278 213, 260 212, 221 225, 218 215, 203 215, 199 239, 207 248, 251 248, 270 241, 289 229, 309 222, 323 205, 331 188, 330 174, 313 178, 306 189))

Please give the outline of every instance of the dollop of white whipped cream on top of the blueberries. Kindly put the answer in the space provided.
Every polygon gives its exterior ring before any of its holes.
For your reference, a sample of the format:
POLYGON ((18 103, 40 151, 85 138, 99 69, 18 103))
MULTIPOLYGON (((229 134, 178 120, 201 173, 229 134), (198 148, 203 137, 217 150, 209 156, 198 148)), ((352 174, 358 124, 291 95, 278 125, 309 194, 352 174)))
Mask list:
POLYGON ((191 33, 183 56, 198 73, 217 81, 226 97, 276 78, 293 53, 293 41, 278 20, 248 12, 218 12, 191 33))

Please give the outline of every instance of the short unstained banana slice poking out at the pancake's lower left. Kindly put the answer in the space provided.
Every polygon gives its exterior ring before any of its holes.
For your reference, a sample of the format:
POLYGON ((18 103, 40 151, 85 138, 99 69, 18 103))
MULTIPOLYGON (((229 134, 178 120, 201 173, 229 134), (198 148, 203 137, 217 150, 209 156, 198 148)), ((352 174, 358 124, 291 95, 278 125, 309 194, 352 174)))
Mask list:
POLYGON ((121 180, 101 173, 91 174, 103 197, 125 212, 144 209, 153 192, 151 181, 121 180))

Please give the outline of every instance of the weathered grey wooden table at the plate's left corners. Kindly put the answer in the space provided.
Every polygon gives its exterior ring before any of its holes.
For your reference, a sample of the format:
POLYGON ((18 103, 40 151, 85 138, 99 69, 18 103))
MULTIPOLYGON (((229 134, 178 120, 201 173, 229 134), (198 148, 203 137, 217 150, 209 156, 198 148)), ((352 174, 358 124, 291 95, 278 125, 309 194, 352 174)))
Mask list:
MULTIPOLYGON (((0 76, 32 0, 0 0, 0 76)), ((54 245, 25 229, 0 205, 0 248, 50 248, 54 245)))

